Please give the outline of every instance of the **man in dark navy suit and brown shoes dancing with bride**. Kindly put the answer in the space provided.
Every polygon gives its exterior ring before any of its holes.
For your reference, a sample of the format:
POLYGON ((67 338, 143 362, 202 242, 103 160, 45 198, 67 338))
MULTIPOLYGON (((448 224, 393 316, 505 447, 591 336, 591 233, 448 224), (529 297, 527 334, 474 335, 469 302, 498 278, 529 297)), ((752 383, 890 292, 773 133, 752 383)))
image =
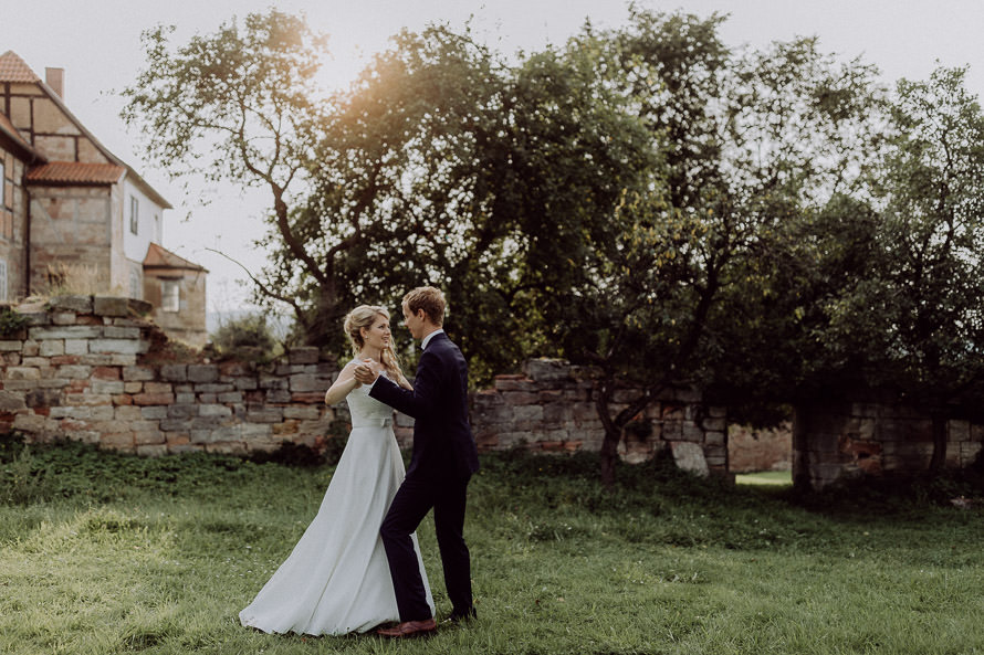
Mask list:
POLYGON ((433 287, 418 287, 402 302, 410 335, 422 341, 414 390, 380 377, 369 363, 355 378, 371 384, 369 395, 415 419, 414 454, 379 530, 396 592, 400 623, 377 631, 406 637, 436 630, 410 535, 433 508, 433 525, 444 569, 444 584, 453 622, 475 616, 471 596, 471 564, 464 545, 464 504, 468 480, 479 469, 474 437, 468 423, 468 367, 458 346, 441 329, 444 296, 433 287))

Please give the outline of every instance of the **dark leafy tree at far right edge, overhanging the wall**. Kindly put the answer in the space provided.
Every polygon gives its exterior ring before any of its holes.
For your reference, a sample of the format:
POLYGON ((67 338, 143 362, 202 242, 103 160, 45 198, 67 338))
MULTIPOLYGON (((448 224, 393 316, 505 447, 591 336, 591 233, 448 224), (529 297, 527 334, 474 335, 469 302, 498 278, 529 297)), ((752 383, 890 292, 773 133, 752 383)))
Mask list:
POLYGON ((758 400, 922 409, 938 469, 946 419, 976 409, 984 379, 984 123, 962 68, 871 97, 852 183, 764 241, 734 287, 732 315, 755 318, 729 371, 758 400))

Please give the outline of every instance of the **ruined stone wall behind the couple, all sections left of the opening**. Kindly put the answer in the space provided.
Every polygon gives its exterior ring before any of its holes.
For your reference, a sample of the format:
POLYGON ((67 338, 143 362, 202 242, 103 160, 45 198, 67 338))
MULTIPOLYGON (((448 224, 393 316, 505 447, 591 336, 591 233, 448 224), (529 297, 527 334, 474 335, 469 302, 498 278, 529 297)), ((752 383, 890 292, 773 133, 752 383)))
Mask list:
MULTIPOLYGON (((29 441, 72 439, 140 455, 205 451, 247 454, 284 442, 323 447, 347 434, 345 404, 327 408, 336 373, 314 348, 282 359, 191 361, 169 356, 163 332, 138 314, 147 304, 66 296, 20 311, 30 324, 0 337, 0 432, 29 441)), ((527 362, 473 393, 480 451, 596 451, 604 432, 585 371, 556 360, 527 362)), ((625 402, 629 391, 616 394, 625 402)), ((647 409, 620 446, 628 462, 670 448, 698 473, 727 469, 725 412, 704 408, 692 390, 673 390, 647 409)), ((402 446, 412 420, 397 414, 402 446)))

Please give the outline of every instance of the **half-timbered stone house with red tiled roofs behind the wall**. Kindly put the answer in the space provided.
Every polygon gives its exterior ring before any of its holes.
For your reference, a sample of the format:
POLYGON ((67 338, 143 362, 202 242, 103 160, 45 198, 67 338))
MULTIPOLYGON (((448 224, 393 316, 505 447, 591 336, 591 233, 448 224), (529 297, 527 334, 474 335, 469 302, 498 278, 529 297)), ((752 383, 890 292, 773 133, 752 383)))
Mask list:
POLYGON ((42 81, 0 55, 0 302, 84 278, 91 293, 150 300, 171 336, 203 345, 208 272, 160 245, 170 203, 80 123, 63 89, 63 70, 42 81))

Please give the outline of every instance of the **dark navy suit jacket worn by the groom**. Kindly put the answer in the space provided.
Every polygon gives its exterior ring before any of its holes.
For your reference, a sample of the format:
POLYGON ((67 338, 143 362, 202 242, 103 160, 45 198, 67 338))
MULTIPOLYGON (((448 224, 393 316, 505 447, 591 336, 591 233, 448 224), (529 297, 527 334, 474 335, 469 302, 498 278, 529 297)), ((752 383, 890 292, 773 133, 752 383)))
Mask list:
POLYGON ((468 422, 468 365, 446 334, 428 341, 412 391, 380 376, 369 395, 415 420, 408 478, 467 478, 479 469, 468 422))

